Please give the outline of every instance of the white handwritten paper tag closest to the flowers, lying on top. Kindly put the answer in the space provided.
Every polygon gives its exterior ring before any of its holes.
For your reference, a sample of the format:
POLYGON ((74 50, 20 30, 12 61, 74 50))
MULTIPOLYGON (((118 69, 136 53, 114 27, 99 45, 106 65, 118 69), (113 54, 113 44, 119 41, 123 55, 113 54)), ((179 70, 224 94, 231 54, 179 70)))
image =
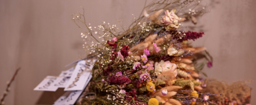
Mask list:
POLYGON ((87 62, 84 60, 78 61, 75 70, 68 81, 64 91, 83 90, 85 81, 91 75, 91 71, 96 59, 88 59, 87 62), (88 63, 90 62, 90 64, 88 63))

